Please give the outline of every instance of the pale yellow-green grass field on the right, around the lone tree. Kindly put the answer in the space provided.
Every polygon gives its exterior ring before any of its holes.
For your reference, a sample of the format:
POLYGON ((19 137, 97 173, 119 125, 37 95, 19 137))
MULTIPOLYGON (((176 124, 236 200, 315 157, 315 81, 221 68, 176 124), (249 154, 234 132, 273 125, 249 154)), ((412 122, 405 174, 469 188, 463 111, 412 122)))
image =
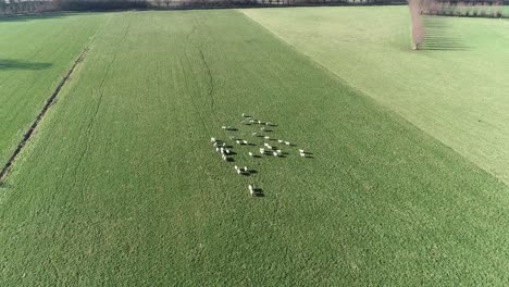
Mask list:
POLYGON ((427 17, 427 38, 415 52, 407 7, 244 13, 509 183, 507 20, 427 17))

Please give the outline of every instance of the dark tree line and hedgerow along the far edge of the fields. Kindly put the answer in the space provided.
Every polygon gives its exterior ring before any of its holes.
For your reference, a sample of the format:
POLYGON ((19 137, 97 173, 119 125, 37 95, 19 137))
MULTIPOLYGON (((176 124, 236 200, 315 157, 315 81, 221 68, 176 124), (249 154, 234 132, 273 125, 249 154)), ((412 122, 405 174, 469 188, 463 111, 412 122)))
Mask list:
POLYGON ((49 11, 193 9, 282 5, 388 5, 418 2, 420 13, 450 16, 509 16, 509 0, 0 0, 0 16, 49 11), (505 1, 505 2, 504 2, 505 1))

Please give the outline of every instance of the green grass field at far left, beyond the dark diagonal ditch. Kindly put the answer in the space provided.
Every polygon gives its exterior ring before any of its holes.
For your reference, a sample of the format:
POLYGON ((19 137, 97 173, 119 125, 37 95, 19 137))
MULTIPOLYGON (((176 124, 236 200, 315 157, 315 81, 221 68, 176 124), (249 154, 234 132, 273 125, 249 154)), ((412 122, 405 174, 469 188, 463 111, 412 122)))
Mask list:
POLYGON ((0 20, 0 165, 101 24, 101 15, 0 20))

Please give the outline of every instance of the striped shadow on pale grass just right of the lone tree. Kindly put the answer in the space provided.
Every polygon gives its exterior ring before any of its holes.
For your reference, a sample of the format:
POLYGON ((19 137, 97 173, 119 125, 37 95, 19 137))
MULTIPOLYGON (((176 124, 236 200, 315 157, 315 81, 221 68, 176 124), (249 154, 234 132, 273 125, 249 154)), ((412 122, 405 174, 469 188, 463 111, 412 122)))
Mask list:
POLYGON ((419 50, 436 51, 467 51, 470 47, 463 39, 455 35, 448 25, 448 18, 425 16, 422 22, 425 27, 424 40, 419 45, 419 50))

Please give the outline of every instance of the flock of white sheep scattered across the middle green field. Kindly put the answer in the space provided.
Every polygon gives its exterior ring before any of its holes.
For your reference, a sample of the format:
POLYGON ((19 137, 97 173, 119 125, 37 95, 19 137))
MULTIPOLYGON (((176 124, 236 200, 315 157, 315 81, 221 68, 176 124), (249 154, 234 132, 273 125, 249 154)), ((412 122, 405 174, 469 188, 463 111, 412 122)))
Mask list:
MULTIPOLYGON (((260 154, 258 154, 256 152, 252 152, 252 151, 248 151, 247 154, 249 157, 252 157, 252 158, 284 157, 284 154, 289 154, 287 152, 283 152, 280 148, 277 148, 275 146, 272 146, 271 144, 268 142, 268 141, 271 141, 271 140, 272 141, 277 141, 278 144, 282 144, 282 145, 285 145, 285 146, 288 146, 288 147, 295 147, 295 144, 293 144, 290 141, 286 141, 286 140, 283 140, 283 139, 271 138, 270 136, 265 136, 265 135, 262 134, 263 132, 266 132, 266 133, 273 132, 272 128, 276 126, 275 124, 272 124, 270 122, 262 122, 260 120, 254 120, 252 116, 244 114, 244 113, 243 113, 243 118, 244 120, 240 122, 240 124, 243 124, 243 125, 259 125, 260 126, 260 128, 259 128, 260 132, 252 133, 251 136, 253 136, 256 138, 259 138, 259 139, 260 138, 264 139, 263 147, 259 149, 260 154)), ((222 128, 224 130, 228 130, 228 132, 238 130, 237 128, 235 128, 233 126, 222 126, 222 128)), ((248 141, 248 140, 245 140, 245 139, 241 139, 241 138, 238 138, 238 137, 235 137, 235 136, 231 136, 229 140, 232 140, 233 142, 235 142, 236 145, 239 145, 239 146, 251 146, 251 147, 257 146, 254 142, 251 142, 251 141, 248 141)), ((233 157, 235 154, 237 154, 237 153, 232 151, 233 147, 228 146, 226 144, 226 140, 222 140, 222 139, 218 139, 215 137, 212 137, 212 138, 210 138, 210 142, 212 142, 215 151, 219 152, 221 154, 221 158, 226 162, 233 161, 233 157)), ((309 158, 309 157, 311 157, 311 153, 305 151, 303 149, 299 149, 299 155, 302 157, 302 158, 309 158)), ((240 174, 240 175, 250 175, 252 172, 254 172, 254 171, 250 171, 247 166, 241 167, 241 166, 235 165, 234 169, 235 169, 235 172, 237 174, 240 174)), ((263 196, 261 189, 254 188, 252 184, 248 185, 248 189, 249 189, 249 194, 251 196, 263 196)))

